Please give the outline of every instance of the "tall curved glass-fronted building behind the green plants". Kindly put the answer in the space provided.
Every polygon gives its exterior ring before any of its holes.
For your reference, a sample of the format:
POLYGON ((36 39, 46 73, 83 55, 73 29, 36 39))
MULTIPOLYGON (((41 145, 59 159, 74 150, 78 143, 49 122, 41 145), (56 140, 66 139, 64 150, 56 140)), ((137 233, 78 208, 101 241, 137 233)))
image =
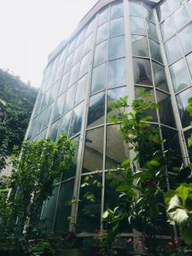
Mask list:
POLYGON ((50 230, 102 230, 102 212, 116 196, 108 169, 130 154, 119 126, 109 123, 108 105, 120 96, 132 101, 140 87, 160 106, 151 123, 188 163, 192 0, 100 0, 49 55, 26 138, 55 141, 65 131, 79 145, 71 172, 56 181, 54 195, 44 202, 41 218, 49 218, 50 230), (81 186, 88 174, 99 184, 91 187, 91 203, 81 186), (70 206, 71 199, 80 203, 70 206))

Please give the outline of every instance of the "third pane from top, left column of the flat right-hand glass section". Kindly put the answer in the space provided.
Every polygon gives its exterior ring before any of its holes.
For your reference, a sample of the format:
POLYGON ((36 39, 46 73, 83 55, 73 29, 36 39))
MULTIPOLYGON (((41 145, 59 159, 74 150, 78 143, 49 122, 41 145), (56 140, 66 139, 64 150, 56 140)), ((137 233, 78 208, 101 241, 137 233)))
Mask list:
POLYGON ((174 61, 177 61, 177 59, 179 59, 182 56, 182 50, 178 42, 177 36, 166 42, 165 50, 167 61, 169 64, 171 64, 174 61), (172 47, 172 45, 174 45, 174 47, 172 47))

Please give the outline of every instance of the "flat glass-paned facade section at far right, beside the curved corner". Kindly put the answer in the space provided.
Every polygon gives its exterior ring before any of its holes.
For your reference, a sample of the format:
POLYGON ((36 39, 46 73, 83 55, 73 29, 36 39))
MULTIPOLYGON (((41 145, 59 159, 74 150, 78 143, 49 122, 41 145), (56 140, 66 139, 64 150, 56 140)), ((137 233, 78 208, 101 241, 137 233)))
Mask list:
POLYGON ((183 131, 189 130, 191 117, 186 107, 192 96, 192 0, 166 0, 156 12, 183 131))

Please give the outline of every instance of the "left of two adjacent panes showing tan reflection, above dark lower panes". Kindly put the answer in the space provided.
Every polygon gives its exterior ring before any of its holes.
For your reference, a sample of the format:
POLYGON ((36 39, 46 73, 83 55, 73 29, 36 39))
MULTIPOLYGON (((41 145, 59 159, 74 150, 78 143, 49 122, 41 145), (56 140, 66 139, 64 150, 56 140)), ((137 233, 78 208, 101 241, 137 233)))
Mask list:
POLYGON ((84 144, 83 172, 102 170, 103 127, 87 131, 84 144))

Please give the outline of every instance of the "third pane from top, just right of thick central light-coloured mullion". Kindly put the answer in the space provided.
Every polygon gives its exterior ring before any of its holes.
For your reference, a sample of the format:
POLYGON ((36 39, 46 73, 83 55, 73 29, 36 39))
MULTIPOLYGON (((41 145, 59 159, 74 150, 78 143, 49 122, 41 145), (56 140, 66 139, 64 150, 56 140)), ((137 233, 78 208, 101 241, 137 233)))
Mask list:
POLYGON ((131 36, 132 55, 148 57, 148 42, 147 38, 143 36, 131 36))

